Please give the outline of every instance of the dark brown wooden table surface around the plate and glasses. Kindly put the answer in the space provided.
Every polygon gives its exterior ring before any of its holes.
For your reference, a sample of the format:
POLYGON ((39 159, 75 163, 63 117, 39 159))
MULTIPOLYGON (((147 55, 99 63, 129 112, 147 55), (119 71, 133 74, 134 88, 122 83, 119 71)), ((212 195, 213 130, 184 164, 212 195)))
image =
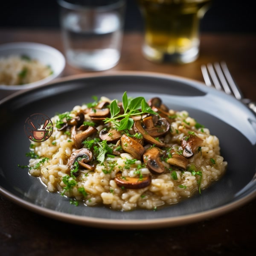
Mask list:
MULTIPOLYGON (((0 44, 30 41, 63 52, 58 30, 0 29, 0 44)), ((204 81, 201 64, 226 61, 244 96, 256 101, 256 36, 201 35, 200 57, 184 65, 155 64, 141 53, 139 32, 124 35, 120 70, 150 71, 204 81)), ((63 76, 86 73, 67 64, 63 76)), ((243 171, 243 170, 241 170, 243 171)), ((105 230, 53 220, 0 196, 0 255, 255 255, 256 199, 224 215, 154 230, 105 230)))

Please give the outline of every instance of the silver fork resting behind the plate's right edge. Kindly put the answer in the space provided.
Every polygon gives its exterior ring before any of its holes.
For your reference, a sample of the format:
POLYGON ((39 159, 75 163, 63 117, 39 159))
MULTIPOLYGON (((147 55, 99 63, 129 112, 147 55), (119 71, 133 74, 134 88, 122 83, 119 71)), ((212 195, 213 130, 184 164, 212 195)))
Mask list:
POLYGON ((226 62, 208 63, 202 65, 201 70, 207 86, 214 86, 217 90, 224 90, 225 93, 235 96, 256 114, 256 102, 244 98, 239 86, 231 76, 226 62))

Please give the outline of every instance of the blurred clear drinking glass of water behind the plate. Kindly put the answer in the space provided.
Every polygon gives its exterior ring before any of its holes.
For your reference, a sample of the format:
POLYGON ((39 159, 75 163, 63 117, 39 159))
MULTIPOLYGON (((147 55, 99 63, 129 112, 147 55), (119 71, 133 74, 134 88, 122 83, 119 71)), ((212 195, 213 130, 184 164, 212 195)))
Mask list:
POLYGON ((125 0, 58 0, 67 63, 108 70, 119 62, 125 0))

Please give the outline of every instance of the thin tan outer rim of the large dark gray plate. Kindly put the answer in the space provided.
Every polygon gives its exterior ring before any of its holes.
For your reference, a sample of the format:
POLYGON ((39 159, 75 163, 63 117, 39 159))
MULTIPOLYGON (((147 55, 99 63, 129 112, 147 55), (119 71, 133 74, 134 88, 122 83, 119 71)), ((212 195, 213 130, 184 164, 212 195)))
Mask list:
MULTIPOLYGON (((214 88, 206 87, 206 85, 195 79, 190 79, 182 76, 177 75, 169 75, 164 73, 156 73, 156 72, 148 72, 148 71, 114 71, 111 73, 99 72, 99 73, 86 73, 86 74, 78 74, 78 75, 71 75, 65 76, 61 78, 57 78, 54 81, 51 81, 47 84, 43 84, 39 87, 18 91, 13 93, 6 98, 0 100, 0 106, 8 102, 11 99, 15 99, 18 96, 22 96, 28 92, 32 92, 33 90, 39 90, 40 88, 44 88, 51 86, 52 84, 58 84, 63 82, 69 81, 76 81, 79 79, 87 79, 87 78, 99 78, 102 76, 151 76, 156 78, 166 78, 175 81, 181 81, 185 83, 189 83, 191 86, 195 85, 196 87, 200 87, 200 89, 206 89, 206 91, 212 90, 213 92, 217 90, 214 88)), ((222 93, 218 91, 217 93, 222 93)), ((224 93, 226 95, 226 93, 224 93)), ((227 95, 229 96, 229 95, 227 95)), ((232 96, 230 96, 232 97, 232 96)), ((236 100, 236 99, 235 99, 236 100)), ((236 100, 239 102, 238 100, 236 100)), ((0 186, 0 194, 3 195, 5 198, 9 199, 10 201, 14 202, 15 204, 28 209, 32 212, 36 212, 40 215, 44 215, 49 218, 53 218, 59 221, 69 222, 72 224, 79 224, 82 226, 88 227, 96 227, 96 228, 106 228, 106 229, 127 229, 127 230, 134 230, 134 229, 155 229, 155 228, 164 228, 164 227, 174 227, 178 225, 185 225, 194 223, 196 221, 201 221, 205 218, 214 218, 220 215, 223 215, 227 212, 232 211, 238 207, 247 204, 248 202, 252 201, 256 197, 256 190, 250 192, 248 195, 236 200, 231 201, 227 204, 224 204, 220 207, 216 207, 214 209, 205 210, 203 212, 196 212, 187 215, 175 216, 175 217, 163 217, 163 218, 151 218, 151 219, 110 219, 110 218, 97 218, 97 217, 89 217, 89 216, 81 216, 81 215, 73 215, 65 212, 58 212, 52 209, 48 209, 42 206, 38 206, 36 204, 30 203, 25 201, 24 199, 14 195, 12 192, 4 189, 0 186)))

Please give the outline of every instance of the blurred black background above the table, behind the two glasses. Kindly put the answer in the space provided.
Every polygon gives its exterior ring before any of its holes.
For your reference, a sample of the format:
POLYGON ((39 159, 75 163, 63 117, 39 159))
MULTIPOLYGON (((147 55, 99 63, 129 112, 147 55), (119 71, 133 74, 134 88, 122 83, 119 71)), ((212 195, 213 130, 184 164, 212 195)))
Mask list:
MULTIPOLYGON (((143 20, 136 0, 126 2, 125 30, 141 31, 143 20)), ((255 11, 249 3, 212 0, 212 8, 201 22, 201 31, 255 34, 255 11)), ((2 0, 0 9, 0 28, 59 28, 57 0, 2 0)))

